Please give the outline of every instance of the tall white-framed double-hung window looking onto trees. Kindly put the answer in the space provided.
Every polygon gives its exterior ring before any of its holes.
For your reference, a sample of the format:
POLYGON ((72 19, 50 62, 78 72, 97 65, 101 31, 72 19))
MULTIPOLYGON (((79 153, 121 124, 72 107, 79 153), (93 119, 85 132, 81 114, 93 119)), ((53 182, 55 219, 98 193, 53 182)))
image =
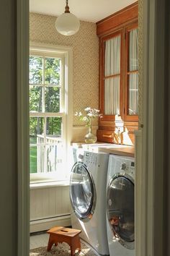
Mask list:
POLYGON ((30 48, 30 179, 66 179, 68 59, 65 51, 30 48))

